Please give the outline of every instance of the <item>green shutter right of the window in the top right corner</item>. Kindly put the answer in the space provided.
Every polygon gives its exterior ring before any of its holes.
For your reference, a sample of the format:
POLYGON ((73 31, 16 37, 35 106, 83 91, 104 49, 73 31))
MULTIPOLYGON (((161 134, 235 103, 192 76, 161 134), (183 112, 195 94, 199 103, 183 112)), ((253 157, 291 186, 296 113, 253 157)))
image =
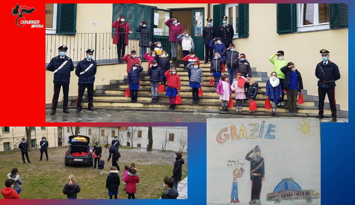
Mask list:
POLYGON ((348 27, 349 4, 329 4, 330 28, 348 27))

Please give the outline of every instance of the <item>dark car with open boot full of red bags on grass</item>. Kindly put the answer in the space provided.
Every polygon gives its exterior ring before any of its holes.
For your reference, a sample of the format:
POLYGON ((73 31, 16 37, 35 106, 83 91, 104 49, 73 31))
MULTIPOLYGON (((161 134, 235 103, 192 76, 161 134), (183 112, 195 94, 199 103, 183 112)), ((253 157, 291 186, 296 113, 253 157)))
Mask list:
POLYGON ((65 152, 64 164, 93 166, 94 157, 90 150, 90 138, 83 135, 69 136, 69 149, 65 152))

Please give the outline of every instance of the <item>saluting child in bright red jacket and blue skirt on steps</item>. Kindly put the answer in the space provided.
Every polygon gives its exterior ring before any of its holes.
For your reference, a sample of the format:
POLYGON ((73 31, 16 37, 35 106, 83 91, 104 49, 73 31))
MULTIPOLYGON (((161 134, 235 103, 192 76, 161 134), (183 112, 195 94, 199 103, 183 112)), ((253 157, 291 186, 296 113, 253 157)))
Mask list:
POLYGON ((180 77, 176 73, 176 68, 172 67, 169 71, 164 74, 167 81, 166 96, 169 97, 169 109, 175 109, 176 95, 180 93, 180 77))

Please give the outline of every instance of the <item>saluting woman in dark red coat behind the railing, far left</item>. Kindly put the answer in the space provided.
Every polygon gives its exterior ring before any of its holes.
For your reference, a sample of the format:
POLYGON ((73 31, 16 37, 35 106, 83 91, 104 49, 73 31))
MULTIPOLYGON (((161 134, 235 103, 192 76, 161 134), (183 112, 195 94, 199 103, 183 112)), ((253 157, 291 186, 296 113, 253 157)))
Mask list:
POLYGON ((117 45, 118 62, 123 62, 122 57, 125 53, 125 47, 128 45, 128 34, 131 34, 132 32, 129 30, 129 24, 126 22, 123 15, 113 22, 112 27, 116 28, 113 44, 117 45))

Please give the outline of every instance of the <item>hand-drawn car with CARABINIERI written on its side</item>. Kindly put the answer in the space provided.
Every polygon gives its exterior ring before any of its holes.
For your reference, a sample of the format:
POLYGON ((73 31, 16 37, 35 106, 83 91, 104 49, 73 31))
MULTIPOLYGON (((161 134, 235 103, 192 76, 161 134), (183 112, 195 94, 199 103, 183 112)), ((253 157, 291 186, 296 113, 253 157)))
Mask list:
POLYGON ((267 201, 280 203, 282 200, 305 199, 307 203, 318 199, 321 195, 310 189, 302 189, 293 178, 284 178, 275 187, 274 192, 267 194, 267 201))

